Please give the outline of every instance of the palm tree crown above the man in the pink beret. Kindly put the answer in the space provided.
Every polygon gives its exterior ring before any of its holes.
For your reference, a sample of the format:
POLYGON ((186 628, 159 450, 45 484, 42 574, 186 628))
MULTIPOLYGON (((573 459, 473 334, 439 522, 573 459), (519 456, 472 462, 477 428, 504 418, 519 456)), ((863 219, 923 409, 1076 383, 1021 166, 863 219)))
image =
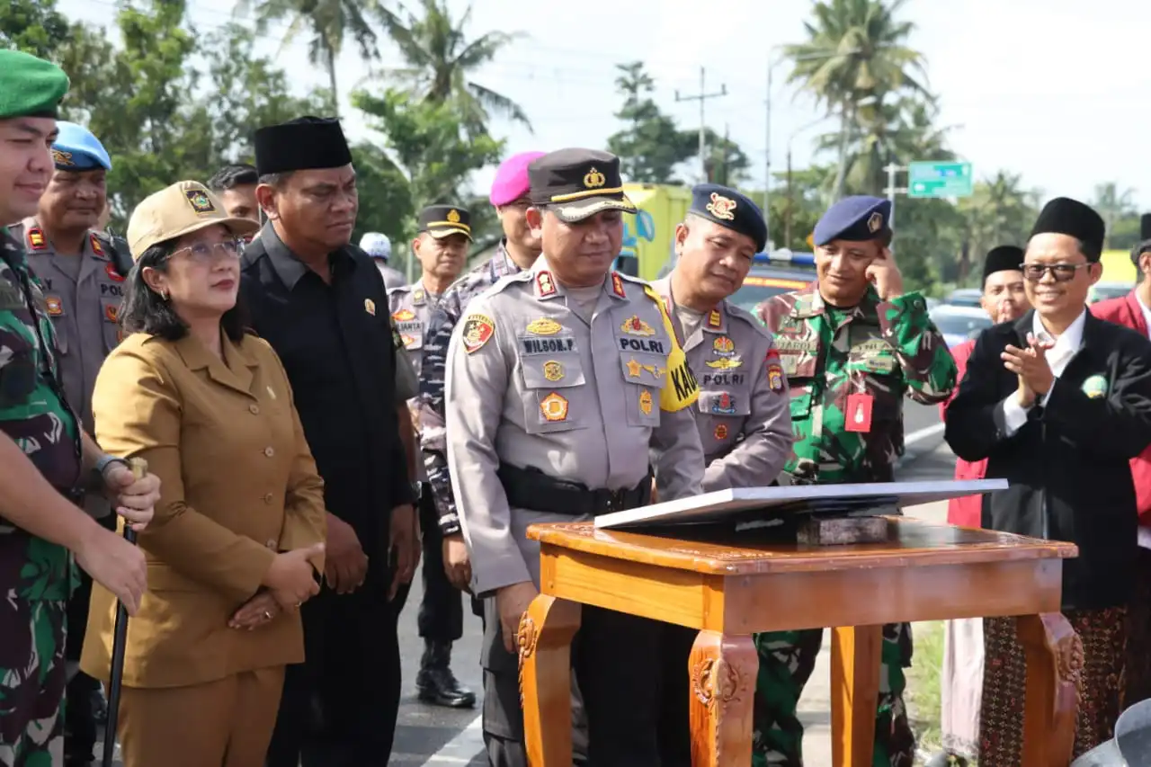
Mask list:
POLYGON ((399 79, 412 98, 455 102, 470 131, 486 131, 493 115, 531 130, 532 123, 518 104, 472 79, 477 69, 495 59, 520 33, 487 32, 468 41, 465 29, 472 18, 471 5, 458 22, 452 18, 447 0, 419 0, 418 5, 422 15, 406 12, 406 20, 386 8, 376 12, 407 63, 386 75, 399 79))

